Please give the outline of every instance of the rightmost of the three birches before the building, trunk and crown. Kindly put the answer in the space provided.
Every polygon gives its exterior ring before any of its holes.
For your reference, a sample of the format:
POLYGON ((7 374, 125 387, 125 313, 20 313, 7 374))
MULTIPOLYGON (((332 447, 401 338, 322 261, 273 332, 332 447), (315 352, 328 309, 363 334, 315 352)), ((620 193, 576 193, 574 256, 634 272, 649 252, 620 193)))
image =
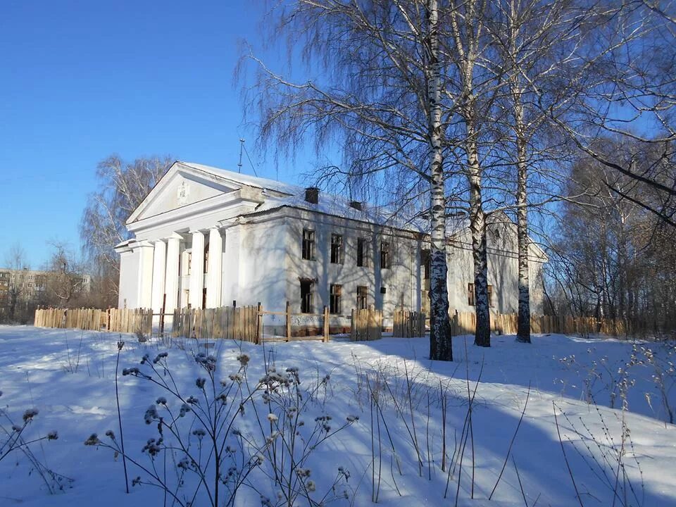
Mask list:
POLYGON ((504 82, 499 108, 506 125, 506 157, 515 166, 518 342, 530 343, 529 173, 539 170, 545 179, 551 177, 539 165, 551 166, 561 157, 547 128, 548 113, 541 108, 548 104, 549 114, 565 108, 561 97, 566 87, 555 77, 575 58, 588 20, 588 12, 568 0, 501 0, 489 23, 504 82))

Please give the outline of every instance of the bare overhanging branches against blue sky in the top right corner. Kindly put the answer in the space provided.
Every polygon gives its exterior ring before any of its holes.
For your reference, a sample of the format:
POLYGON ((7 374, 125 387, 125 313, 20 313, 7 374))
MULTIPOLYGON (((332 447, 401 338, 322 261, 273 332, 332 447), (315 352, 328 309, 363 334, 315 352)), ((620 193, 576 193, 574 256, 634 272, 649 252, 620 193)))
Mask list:
POLYGON ((644 194, 658 194, 657 200, 634 204, 676 227, 676 180, 663 170, 676 160, 676 4, 599 2, 594 18, 594 42, 581 46, 577 61, 562 69, 576 88, 570 94, 575 106, 564 115, 551 113, 551 120, 584 156, 649 187, 644 194), (661 155, 650 165, 636 165, 599 149, 599 137, 643 144, 637 152, 658 146, 661 155))

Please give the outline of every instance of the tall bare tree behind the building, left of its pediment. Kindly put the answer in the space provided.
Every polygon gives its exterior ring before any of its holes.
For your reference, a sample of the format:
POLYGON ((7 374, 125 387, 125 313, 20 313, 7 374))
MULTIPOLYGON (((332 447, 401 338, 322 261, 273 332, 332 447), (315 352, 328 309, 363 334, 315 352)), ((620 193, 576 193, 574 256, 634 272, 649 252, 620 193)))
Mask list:
POLYGON ((127 218, 166 173, 171 158, 137 158, 127 163, 109 156, 96 168, 99 189, 89 195, 80 220, 80 238, 84 250, 96 266, 99 286, 118 294, 120 265, 114 247, 129 238, 127 218))

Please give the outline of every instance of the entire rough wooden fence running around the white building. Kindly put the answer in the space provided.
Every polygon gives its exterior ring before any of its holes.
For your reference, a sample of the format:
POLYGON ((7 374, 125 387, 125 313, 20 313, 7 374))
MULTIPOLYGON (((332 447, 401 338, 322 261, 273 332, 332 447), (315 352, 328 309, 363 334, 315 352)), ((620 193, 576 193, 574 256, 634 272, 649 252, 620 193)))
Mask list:
MULTIPOLYGON (((394 311, 394 337, 419 337, 425 335, 425 313, 394 311)), ((149 309, 108 308, 38 308, 35 311, 36 327, 75 328, 80 330, 107 330, 108 332, 142 332, 150 336, 153 312, 149 309)), ((350 339, 352 341, 373 340, 382 337, 383 314, 380 310, 368 308, 352 310, 350 339)), ((454 336, 474 334, 476 315, 473 312, 455 312, 451 315, 451 332, 454 336)), ((622 320, 596 320, 593 317, 554 318, 551 315, 532 315, 530 328, 533 333, 606 334, 626 336, 641 330, 628 330, 622 320)), ((647 330, 643 331, 646 332, 647 330)), ((516 334, 516 313, 492 313, 491 330, 496 334, 516 334)), ((238 339, 259 344, 263 340, 292 341, 320 339, 328 342, 331 332, 342 332, 342 328, 330 328, 330 315, 326 307, 323 313, 292 313, 287 301, 285 311, 265 311, 258 306, 223 306, 221 308, 182 308, 173 313, 171 334, 173 337, 195 337, 215 339, 238 339), (280 315, 280 330, 268 336, 263 330, 264 315, 280 315), (293 318, 314 319, 313 325, 293 325, 293 318)))

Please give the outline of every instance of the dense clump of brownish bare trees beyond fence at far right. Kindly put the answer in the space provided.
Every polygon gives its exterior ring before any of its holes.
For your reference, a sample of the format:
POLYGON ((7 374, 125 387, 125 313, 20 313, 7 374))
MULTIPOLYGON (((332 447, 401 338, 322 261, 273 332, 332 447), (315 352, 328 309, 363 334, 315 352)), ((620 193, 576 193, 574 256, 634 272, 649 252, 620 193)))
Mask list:
MULTIPOLYGON (((660 149, 639 153, 643 148, 621 137, 594 144, 634 170, 661 158, 660 149)), ((620 320, 634 334, 673 331, 676 230, 636 204, 652 205, 659 193, 594 158, 578 161, 570 176, 569 192, 583 194, 563 206, 553 246, 563 306, 572 315, 620 320)))

